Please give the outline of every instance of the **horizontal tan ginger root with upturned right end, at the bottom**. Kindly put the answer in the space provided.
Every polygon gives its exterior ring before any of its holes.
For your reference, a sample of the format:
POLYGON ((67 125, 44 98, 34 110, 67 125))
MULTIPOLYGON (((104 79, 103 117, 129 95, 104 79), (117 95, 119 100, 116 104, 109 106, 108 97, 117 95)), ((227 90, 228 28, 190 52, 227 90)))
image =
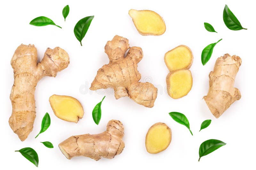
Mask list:
POLYGON ((124 149, 124 126, 118 120, 110 120, 107 130, 100 134, 71 136, 59 144, 60 151, 71 159, 85 156, 94 160, 112 159, 124 149))

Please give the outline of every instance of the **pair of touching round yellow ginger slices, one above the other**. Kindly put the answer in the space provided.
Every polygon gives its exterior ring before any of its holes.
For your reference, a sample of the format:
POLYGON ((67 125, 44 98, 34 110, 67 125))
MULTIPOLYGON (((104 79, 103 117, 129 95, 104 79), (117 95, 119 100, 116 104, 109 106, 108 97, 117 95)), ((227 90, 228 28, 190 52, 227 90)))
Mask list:
POLYGON ((186 96, 192 88, 190 70, 193 54, 188 46, 180 45, 164 55, 164 62, 170 73, 166 77, 167 92, 174 99, 186 96))

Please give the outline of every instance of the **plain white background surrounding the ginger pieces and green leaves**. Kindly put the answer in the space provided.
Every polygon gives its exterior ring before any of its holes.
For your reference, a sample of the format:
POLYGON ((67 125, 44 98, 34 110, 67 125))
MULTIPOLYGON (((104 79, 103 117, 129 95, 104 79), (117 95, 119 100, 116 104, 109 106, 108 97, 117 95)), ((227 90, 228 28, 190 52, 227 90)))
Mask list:
MULTIPOLYGON (((1 168, 36 169, 20 153, 14 152, 24 147, 32 147, 39 156, 37 169, 255 169, 255 5, 253 1, 4 1, 1 16, 1 168), (62 9, 69 5, 70 12, 64 22, 62 9), (248 30, 231 31, 223 22, 225 4, 236 15, 242 26, 248 30), (128 15, 130 9, 152 10, 160 14, 166 24, 166 32, 161 36, 142 36, 135 29, 128 15), (73 29, 78 20, 94 15, 92 24, 82 43, 77 41, 73 29), (38 16, 51 18, 62 29, 48 25, 36 27, 29 22, 38 16), (218 33, 207 32, 204 22, 213 25, 218 33), (153 108, 146 108, 128 97, 115 99, 114 94, 100 90, 98 93, 88 88, 97 70, 108 63, 104 46, 115 35, 129 39, 130 46, 140 46, 144 58, 138 64, 144 82, 145 78, 159 87, 153 108), (214 48, 212 58, 203 66, 201 52, 211 43, 220 41, 214 48), (10 60, 15 49, 21 44, 34 44, 38 61, 47 47, 60 46, 70 57, 68 68, 53 77, 44 77, 36 86, 36 120, 34 129, 21 142, 8 124, 12 113, 9 99, 13 84, 13 70, 10 60), (164 54, 178 45, 187 45, 194 54, 190 68, 193 87, 187 96, 172 99, 165 92, 165 77, 168 69, 164 64, 164 54), (225 53, 238 55, 242 65, 236 76, 235 87, 242 98, 231 105, 216 119, 208 109, 203 96, 208 92, 208 74, 215 60, 225 53), (147 77, 150 77, 149 79, 147 77), (80 87, 87 90, 85 94, 80 87), (162 87, 162 88, 161 88, 162 87), (84 107, 84 117, 77 124, 57 118, 48 99, 51 95, 68 95, 77 98, 84 107), (102 103, 102 117, 96 125, 92 119, 92 109, 106 95, 102 103), (176 123, 169 112, 184 113, 190 123, 188 129, 176 123), (48 112, 51 126, 40 131, 41 120, 48 112), (125 127, 124 151, 114 159, 95 161, 86 157, 71 160, 60 152, 58 144, 71 135, 101 133, 110 119, 120 120, 125 127), (212 124, 198 132, 205 119, 212 124), (163 152, 149 154, 145 148, 148 128, 164 122, 172 129, 172 142, 163 152), (227 145, 202 157, 198 162, 198 149, 207 139, 219 139, 227 145), (53 149, 46 148, 42 141, 51 141, 53 149)), ((108 91, 111 91, 110 89, 108 91)))

